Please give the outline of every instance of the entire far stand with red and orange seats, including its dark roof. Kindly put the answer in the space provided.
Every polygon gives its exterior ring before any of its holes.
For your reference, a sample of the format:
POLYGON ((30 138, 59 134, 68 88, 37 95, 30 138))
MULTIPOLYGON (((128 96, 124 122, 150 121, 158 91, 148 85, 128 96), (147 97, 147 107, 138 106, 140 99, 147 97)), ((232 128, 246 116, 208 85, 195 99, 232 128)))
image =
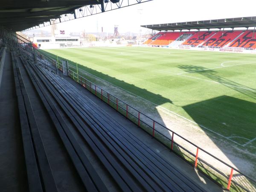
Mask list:
POLYGON ((159 31, 165 30, 166 32, 157 33, 152 38, 145 41, 144 44, 153 47, 173 47, 174 44, 178 44, 180 47, 240 47, 244 49, 256 49, 255 28, 248 30, 250 26, 255 27, 255 20, 255 17, 240 17, 145 25, 142 27, 159 31), (234 30, 234 28, 239 27, 246 27, 247 30, 234 30), (210 30, 212 28, 219 28, 219 31, 210 30), (233 30, 224 31, 225 28, 233 28, 233 30), (183 31, 187 29, 189 29, 189 32, 183 31), (198 32, 190 32, 190 29, 197 29, 198 32), (201 29, 208 29, 208 31, 202 31, 201 29), (168 32, 168 30, 173 30, 173 32, 168 32), (180 32, 174 32, 174 30, 180 30, 180 32), (188 36, 184 38, 183 34, 188 34, 188 36), (180 42, 180 40, 184 42, 180 42))

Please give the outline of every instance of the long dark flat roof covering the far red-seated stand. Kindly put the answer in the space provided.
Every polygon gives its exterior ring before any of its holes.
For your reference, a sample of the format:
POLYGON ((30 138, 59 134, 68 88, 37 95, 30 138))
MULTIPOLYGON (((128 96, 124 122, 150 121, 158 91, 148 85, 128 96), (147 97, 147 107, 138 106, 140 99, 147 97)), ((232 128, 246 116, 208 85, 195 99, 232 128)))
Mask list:
POLYGON ((182 30, 182 29, 221 29, 221 28, 236 28, 236 27, 255 27, 256 17, 237 17, 227 19, 212 19, 187 21, 179 23, 163 23, 154 25, 143 25, 142 27, 158 30, 182 30))

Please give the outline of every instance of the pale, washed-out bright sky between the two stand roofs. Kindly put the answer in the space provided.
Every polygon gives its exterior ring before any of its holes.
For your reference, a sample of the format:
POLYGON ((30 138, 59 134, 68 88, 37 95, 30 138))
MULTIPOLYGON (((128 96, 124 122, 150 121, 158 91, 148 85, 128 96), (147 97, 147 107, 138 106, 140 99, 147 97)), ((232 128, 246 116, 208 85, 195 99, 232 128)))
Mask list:
MULTIPOLYGON (((137 33, 140 25, 250 16, 256 16, 256 0, 153 0, 59 23, 57 28, 71 32, 101 32, 103 27, 104 32, 113 33, 114 26, 118 25, 120 33, 137 33)), ((49 26, 41 29, 50 31, 49 26)))

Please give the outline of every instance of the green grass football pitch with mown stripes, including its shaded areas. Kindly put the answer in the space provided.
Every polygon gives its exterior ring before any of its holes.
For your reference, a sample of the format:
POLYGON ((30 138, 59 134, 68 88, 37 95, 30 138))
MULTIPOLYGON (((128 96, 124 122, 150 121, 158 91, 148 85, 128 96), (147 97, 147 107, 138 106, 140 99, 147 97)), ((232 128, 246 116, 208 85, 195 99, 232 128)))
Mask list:
POLYGON ((45 51, 241 146, 256 147, 256 55, 149 47, 45 51))

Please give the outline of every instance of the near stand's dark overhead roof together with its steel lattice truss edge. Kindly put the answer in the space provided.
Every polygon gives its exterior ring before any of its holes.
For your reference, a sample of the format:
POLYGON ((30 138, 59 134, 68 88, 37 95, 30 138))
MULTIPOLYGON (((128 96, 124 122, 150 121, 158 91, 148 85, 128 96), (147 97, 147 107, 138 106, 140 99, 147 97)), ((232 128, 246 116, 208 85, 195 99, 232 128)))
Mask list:
POLYGON ((37 29, 151 0, 0 0, 0 26, 37 29))

